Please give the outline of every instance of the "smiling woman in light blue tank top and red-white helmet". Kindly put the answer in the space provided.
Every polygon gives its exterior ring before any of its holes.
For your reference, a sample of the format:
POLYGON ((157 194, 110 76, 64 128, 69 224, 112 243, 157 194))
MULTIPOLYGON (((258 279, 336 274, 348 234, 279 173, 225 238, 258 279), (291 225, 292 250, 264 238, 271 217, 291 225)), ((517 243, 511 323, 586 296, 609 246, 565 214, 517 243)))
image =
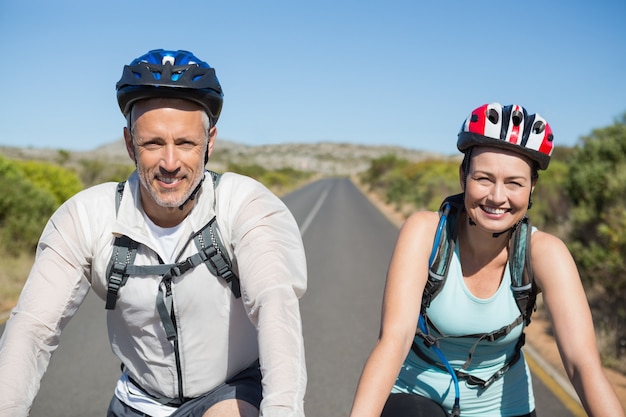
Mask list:
POLYGON ((590 416, 624 416, 600 364, 571 254, 550 234, 534 228, 527 237, 516 233, 527 224, 537 172, 548 166, 552 139, 546 121, 518 105, 484 105, 465 120, 457 142, 465 154, 459 170, 463 193, 445 211, 456 227, 440 227, 434 212, 415 213, 403 225, 388 270, 380 336, 351 417, 535 416, 521 352, 529 320, 512 294, 512 276, 523 274, 510 257, 523 253, 528 239, 530 307, 541 291, 585 410, 590 416), (429 265, 431 254, 439 258, 444 252, 442 230, 453 230, 453 249, 447 271, 438 277, 444 278, 440 292, 433 295, 429 288, 437 280, 429 279, 429 265), (425 293, 422 308, 416 300, 425 293))

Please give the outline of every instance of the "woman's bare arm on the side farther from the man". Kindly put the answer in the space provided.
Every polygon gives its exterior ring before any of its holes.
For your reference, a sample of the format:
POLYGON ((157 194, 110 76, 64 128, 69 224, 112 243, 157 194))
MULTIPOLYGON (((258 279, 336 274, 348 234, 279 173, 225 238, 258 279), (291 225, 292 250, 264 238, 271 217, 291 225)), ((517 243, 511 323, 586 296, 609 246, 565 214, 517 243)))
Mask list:
POLYGON ((589 416, 624 416, 596 344, 591 311, 574 259, 565 244, 533 234, 533 270, 552 320, 563 365, 589 416))

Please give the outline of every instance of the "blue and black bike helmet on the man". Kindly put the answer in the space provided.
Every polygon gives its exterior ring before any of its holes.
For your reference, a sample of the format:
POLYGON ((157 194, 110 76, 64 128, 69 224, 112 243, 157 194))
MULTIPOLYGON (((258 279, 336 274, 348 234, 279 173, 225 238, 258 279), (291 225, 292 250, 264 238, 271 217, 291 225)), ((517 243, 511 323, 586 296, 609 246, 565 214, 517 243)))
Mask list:
POLYGON ((215 70, 188 51, 155 49, 124 66, 117 82, 117 102, 124 116, 147 98, 180 98, 201 105, 211 126, 222 111, 224 94, 215 70))

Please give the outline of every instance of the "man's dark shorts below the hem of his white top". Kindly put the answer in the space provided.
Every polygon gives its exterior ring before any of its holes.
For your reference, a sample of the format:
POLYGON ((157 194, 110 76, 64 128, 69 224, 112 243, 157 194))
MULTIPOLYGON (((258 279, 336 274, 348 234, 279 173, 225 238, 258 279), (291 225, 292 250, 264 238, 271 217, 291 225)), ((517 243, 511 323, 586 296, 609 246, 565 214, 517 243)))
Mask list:
MULTIPOLYGON (((208 393, 186 401, 172 413, 171 417, 201 417, 209 408, 224 400, 245 401, 257 409, 261 408, 263 393, 261 370, 258 361, 208 393)), ((150 417, 120 401, 115 395, 109 404, 107 417, 150 417)))

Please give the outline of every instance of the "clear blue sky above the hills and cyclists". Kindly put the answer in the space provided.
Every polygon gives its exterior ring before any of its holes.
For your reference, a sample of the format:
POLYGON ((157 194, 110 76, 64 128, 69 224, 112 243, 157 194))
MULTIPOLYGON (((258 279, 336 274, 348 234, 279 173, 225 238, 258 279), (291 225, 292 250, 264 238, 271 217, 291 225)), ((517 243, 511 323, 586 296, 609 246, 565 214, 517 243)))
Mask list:
POLYGON ((626 112, 625 21, 624 0, 0 0, 0 144, 118 140, 122 67, 165 48, 216 68, 222 139, 454 154, 499 101, 569 146, 626 112))

